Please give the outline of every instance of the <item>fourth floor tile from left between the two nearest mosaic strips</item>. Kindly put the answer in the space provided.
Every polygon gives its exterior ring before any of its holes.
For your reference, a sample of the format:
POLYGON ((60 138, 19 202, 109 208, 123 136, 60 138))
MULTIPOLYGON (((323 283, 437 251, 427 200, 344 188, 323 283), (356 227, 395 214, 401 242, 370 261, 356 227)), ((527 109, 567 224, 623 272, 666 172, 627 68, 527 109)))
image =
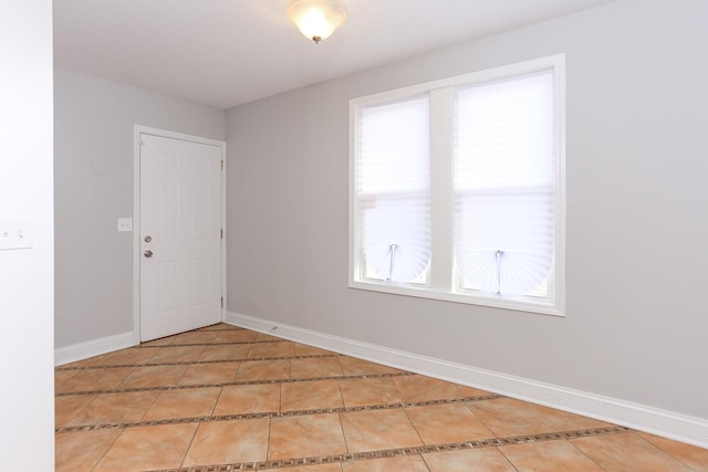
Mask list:
POLYGON ((271 420, 268 459, 309 458, 346 452, 339 415, 271 420))

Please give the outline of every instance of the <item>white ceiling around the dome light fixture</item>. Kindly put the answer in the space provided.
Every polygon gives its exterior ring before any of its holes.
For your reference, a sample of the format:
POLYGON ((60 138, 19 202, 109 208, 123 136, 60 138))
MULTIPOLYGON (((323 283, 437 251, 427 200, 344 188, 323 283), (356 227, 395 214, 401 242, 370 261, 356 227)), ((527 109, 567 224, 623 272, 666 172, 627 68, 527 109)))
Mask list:
POLYGON ((54 0, 58 66, 229 108, 610 0, 345 0, 314 44, 290 0, 54 0))

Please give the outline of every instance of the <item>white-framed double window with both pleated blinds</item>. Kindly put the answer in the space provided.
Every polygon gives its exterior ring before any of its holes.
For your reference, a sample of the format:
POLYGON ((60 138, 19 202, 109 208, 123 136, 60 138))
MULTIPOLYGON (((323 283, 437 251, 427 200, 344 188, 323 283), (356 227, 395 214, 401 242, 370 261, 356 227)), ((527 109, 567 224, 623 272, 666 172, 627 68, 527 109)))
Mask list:
POLYGON ((354 98, 350 286, 562 315, 562 55, 354 98))

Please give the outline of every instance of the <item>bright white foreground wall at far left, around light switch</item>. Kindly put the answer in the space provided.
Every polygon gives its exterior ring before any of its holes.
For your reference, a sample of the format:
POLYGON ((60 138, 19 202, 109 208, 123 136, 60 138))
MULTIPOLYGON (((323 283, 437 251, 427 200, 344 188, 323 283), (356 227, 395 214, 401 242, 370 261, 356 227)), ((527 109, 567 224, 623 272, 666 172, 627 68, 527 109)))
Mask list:
POLYGON ((0 221, 32 249, 0 251, 2 470, 54 470, 52 2, 0 7, 0 221))

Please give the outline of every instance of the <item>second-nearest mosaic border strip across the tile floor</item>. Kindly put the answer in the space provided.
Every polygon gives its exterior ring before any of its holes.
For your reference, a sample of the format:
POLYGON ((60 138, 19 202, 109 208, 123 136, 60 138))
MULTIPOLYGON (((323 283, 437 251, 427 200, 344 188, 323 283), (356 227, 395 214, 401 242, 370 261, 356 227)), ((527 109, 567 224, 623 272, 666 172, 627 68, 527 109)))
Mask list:
MULTIPOLYGON (((54 432, 74 432, 74 431, 95 431, 104 429, 116 428, 137 428, 137 427, 150 427, 162 424, 183 424, 194 422, 218 422, 218 421, 239 421, 239 420, 253 420, 253 419, 272 419, 272 418, 291 418, 291 417, 304 417, 310 415, 325 415, 325 413, 352 413, 358 411, 379 411, 379 410, 393 410, 396 408, 415 408, 427 407, 431 405, 451 405, 451 403, 466 403, 477 401, 488 401, 504 398, 501 395, 485 395, 477 397, 462 397, 450 398, 441 400, 427 400, 415 402, 397 402, 387 405, 372 405, 361 407, 343 407, 343 408, 317 408, 310 410, 292 410, 292 411, 263 411, 253 413, 237 413, 237 415, 218 415, 218 416, 202 416, 191 418, 166 418, 154 421, 133 421, 125 423, 103 423, 103 424, 84 424, 84 426, 66 426, 56 428, 54 432)), ((216 407, 216 403, 215 403, 216 407)))

